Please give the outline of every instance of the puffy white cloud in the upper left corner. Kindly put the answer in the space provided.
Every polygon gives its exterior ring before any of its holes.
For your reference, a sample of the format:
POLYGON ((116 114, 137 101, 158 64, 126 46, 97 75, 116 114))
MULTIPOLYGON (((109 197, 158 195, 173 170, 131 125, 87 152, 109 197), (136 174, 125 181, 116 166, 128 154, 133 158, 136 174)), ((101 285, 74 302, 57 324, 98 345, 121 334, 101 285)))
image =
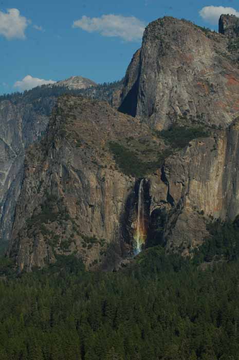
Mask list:
POLYGON ((7 9, 7 12, 0 11, 0 35, 6 39, 25 39, 25 30, 30 20, 20 15, 17 9, 7 9))

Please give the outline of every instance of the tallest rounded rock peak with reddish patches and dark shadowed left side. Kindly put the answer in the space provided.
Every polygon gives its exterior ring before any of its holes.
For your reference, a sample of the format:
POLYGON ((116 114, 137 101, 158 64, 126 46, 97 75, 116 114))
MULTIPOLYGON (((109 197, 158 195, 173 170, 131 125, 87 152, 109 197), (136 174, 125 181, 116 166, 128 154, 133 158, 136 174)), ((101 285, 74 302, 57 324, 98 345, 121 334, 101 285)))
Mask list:
POLYGON ((164 17, 144 31, 142 47, 127 69, 120 111, 158 130, 185 112, 225 128, 238 114, 238 95, 238 62, 228 39, 164 17))

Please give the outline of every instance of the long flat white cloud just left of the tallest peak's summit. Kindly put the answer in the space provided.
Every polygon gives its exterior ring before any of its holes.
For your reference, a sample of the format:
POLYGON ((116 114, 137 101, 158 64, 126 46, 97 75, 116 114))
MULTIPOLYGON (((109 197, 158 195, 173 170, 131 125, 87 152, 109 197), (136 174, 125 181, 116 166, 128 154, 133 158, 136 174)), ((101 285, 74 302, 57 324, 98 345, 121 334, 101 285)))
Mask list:
POLYGON ((80 20, 73 22, 72 27, 99 32, 106 37, 119 37, 125 41, 141 41, 145 24, 135 16, 109 14, 91 18, 82 16, 80 20))

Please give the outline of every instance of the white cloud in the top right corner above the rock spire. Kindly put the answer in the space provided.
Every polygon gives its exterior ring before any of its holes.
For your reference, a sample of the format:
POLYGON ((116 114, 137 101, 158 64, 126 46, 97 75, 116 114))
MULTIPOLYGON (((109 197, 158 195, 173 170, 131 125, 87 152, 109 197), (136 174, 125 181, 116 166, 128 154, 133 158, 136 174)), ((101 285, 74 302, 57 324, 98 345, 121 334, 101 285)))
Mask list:
POLYGON ((199 14, 205 21, 212 25, 217 25, 220 15, 229 14, 239 17, 239 12, 230 7, 224 6, 205 6, 199 11, 199 14))

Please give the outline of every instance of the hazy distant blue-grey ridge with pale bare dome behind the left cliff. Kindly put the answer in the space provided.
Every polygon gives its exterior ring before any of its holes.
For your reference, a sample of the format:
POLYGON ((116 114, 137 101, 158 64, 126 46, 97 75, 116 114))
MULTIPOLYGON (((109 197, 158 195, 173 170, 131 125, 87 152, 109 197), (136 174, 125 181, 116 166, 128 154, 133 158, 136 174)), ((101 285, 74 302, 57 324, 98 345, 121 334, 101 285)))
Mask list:
MULTIPOLYGON (((114 84, 113 91, 119 86, 114 84)), ((11 237, 15 206, 21 191, 25 149, 44 135, 58 96, 82 93, 102 97, 117 106, 119 94, 115 94, 113 101, 111 84, 108 87, 97 87, 89 79, 71 77, 54 86, 44 85, 24 94, 0 98, 0 251, 6 248, 11 237)))

